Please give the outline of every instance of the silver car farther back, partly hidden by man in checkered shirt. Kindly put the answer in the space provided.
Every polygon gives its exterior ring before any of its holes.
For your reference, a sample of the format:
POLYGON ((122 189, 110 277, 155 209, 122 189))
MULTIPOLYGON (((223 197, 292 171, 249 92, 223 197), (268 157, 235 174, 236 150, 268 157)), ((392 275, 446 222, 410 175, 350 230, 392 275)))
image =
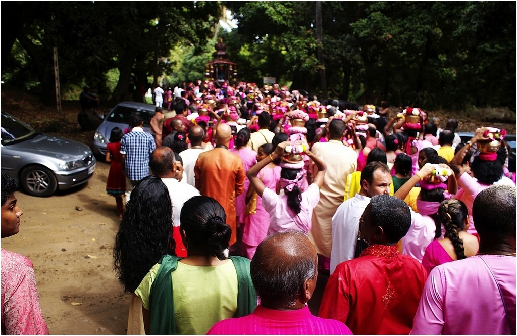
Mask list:
POLYGON ((106 155, 106 145, 109 142, 111 130, 115 127, 119 127, 124 131, 129 127, 129 120, 133 114, 139 114, 144 120, 144 129, 146 132, 151 132, 149 122, 155 115, 155 107, 150 104, 123 101, 111 109, 107 116, 105 116, 104 121, 97 128, 93 142, 95 154, 100 156, 106 155))

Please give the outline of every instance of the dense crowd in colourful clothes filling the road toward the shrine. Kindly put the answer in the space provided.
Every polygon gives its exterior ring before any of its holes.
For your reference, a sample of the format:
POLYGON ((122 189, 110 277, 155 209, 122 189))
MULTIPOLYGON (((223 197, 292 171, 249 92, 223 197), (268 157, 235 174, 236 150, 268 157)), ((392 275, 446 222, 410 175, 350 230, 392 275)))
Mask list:
POLYGON ((135 115, 108 144, 128 334, 515 333, 505 130, 464 143, 457 120, 386 101, 178 86, 150 133, 135 115))

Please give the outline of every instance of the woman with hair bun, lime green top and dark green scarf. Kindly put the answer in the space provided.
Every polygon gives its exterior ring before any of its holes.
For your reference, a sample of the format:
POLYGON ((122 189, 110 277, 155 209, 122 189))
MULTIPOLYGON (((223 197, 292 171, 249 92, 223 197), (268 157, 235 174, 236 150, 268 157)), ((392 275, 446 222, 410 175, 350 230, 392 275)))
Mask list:
POLYGON ((257 305, 250 260, 227 257, 232 229, 221 204, 194 196, 183 204, 180 219, 188 257, 164 255, 135 290, 146 334, 205 334, 220 320, 248 315, 257 305))

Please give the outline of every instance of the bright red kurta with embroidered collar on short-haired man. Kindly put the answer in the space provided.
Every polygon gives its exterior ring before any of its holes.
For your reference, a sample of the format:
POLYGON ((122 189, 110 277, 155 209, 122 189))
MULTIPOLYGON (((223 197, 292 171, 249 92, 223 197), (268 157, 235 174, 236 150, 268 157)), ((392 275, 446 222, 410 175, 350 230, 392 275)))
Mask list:
POLYGON ((409 334, 427 272, 397 246, 371 245, 330 275, 318 316, 354 334, 409 334))

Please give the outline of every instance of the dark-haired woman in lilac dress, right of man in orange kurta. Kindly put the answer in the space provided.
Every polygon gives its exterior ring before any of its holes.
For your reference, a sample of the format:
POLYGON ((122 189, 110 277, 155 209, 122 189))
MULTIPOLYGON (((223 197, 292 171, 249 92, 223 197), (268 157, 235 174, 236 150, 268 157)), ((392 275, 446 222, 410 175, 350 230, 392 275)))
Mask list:
MULTIPOLYGON (((230 152, 237 154, 242 160, 244 171, 248 171, 251 166, 257 163, 257 153, 251 148, 246 147, 250 141, 251 131, 248 127, 242 128, 237 133, 235 139, 235 147, 230 149, 230 152)), ((244 181, 244 190, 248 190, 250 181, 244 181)), ((235 198, 235 209, 237 210, 237 223, 244 223, 244 208, 246 208, 246 193, 242 193, 235 198)))

